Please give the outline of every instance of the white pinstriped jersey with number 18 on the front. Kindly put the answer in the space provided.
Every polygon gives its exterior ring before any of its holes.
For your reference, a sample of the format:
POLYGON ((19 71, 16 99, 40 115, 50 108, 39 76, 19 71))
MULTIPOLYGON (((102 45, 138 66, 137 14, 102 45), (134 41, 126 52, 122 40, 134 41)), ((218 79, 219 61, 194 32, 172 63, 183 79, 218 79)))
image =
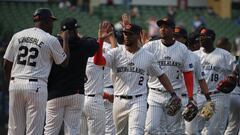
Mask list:
POLYGON ((200 48, 194 53, 200 57, 209 91, 215 91, 218 82, 233 71, 235 58, 221 48, 209 54, 200 48))

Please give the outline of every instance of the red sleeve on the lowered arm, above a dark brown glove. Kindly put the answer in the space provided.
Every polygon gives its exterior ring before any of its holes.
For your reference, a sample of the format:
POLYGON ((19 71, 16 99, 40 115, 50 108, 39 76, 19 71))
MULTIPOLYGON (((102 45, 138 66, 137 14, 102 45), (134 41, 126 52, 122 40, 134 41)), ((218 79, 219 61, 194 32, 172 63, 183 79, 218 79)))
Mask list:
POLYGON ((193 100, 193 72, 183 72, 185 86, 187 88, 188 92, 188 98, 189 100, 193 100))

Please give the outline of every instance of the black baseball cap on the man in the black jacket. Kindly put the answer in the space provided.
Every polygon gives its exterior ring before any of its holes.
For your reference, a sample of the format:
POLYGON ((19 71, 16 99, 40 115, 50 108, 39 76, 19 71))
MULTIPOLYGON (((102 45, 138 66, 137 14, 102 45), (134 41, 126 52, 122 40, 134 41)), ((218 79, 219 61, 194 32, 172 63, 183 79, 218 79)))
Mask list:
POLYGON ((68 17, 62 20, 61 22, 61 30, 74 30, 76 28, 79 28, 80 26, 78 25, 78 22, 75 18, 73 17, 68 17))

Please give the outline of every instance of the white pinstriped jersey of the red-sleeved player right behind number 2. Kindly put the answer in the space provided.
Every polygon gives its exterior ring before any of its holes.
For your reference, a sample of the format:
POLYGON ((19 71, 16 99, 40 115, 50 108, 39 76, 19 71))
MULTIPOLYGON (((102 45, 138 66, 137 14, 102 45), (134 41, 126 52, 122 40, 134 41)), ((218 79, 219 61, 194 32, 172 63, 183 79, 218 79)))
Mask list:
MULTIPOLYGON (((178 41, 167 47, 163 45, 161 40, 148 42, 143 47, 154 54, 159 66, 171 81, 173 88, 182 88, 184 86, 182 72, 193 70, 187 47, 178 41)), ((156 77, 150 77, 148 85, 150 88, 165 89, 156 77)))

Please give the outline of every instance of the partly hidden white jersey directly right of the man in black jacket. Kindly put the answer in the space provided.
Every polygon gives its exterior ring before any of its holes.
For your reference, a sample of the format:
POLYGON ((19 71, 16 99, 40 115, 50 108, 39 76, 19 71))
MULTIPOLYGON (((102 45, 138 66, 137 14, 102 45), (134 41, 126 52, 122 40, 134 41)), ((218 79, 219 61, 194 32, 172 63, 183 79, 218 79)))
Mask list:
POLYGON ((88 58, 86 75, 87 82, 84 84, 85 95, 101 95, 103 92, 103 67, 95 65, 93 57, 88 58))

